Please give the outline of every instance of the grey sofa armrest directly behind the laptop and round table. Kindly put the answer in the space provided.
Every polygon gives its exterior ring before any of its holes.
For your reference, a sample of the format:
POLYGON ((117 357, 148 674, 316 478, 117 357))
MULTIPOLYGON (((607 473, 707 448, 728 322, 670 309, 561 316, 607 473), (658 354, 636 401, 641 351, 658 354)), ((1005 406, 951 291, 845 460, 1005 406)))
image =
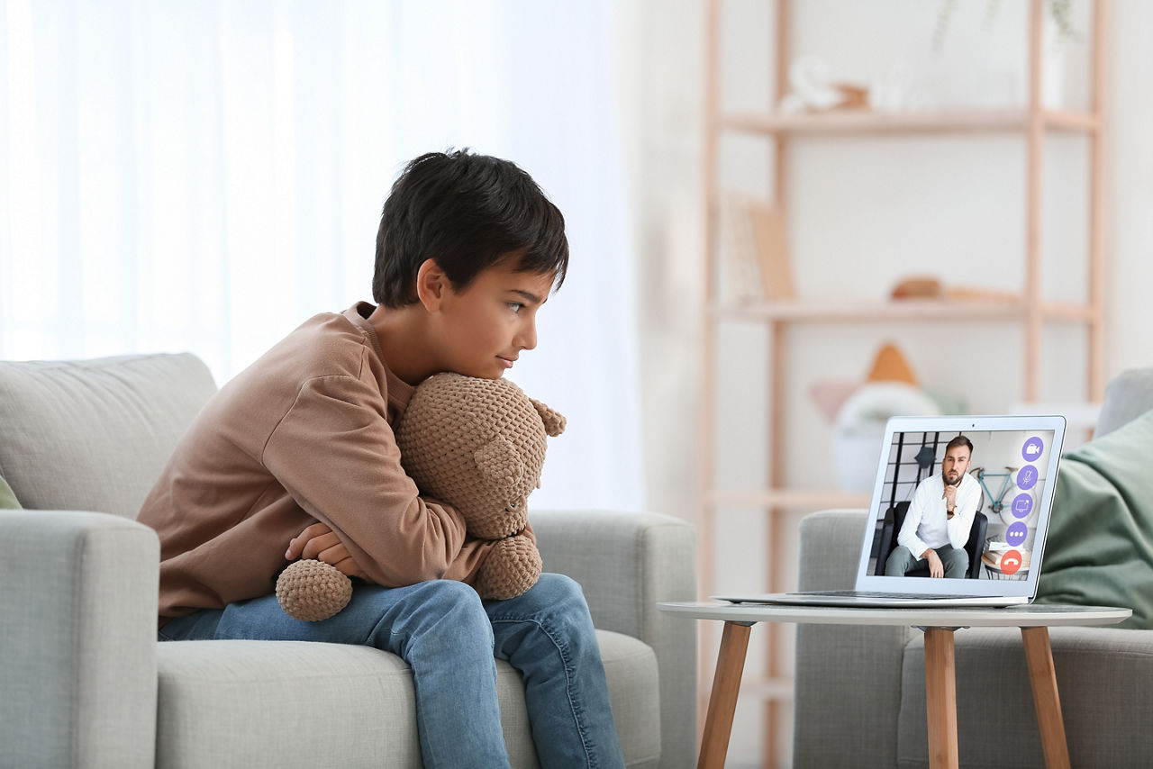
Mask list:
MULTIPOLYGON (((862 529, 872 521, 862 510, 805 517, 800 589, 852 589, 862 529)), ((837 766, 846 755, 867 755, 871 766, 897 764, 900 668, 912 636, 907 627, 797 626, 794 766, 837 766)))

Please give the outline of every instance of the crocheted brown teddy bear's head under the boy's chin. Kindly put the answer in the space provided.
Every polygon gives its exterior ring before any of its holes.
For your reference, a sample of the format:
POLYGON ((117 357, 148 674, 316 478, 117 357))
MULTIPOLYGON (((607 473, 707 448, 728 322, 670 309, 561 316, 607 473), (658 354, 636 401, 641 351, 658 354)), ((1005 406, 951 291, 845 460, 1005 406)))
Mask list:
POLYGON ((499 540, 525 528, 545 438, 564 429, 564 416, 507 379, 437 374, 414 390, 397 445, 423 493, 455 507, 473 536, 499 540))

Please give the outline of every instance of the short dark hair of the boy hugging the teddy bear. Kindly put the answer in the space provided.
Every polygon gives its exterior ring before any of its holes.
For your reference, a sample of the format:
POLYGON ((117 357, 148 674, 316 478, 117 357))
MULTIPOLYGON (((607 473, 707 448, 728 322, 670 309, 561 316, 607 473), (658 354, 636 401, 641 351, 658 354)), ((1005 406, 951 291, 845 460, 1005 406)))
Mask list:
POLYGON ((416 273, 435 259, 461 289, 508 254, 515 270, 568 269, 565 219, 515 164, 467 149, 429 152, 409 163, 384 202, 376 235, 372 299, 385 307, 416 301, 416 273))

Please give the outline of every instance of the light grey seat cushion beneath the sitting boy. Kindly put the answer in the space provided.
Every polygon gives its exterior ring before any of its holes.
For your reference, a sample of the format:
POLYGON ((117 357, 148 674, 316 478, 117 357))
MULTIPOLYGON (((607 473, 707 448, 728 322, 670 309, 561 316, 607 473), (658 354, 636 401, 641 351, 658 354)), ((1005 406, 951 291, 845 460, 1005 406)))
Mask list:
MULTIPOLYGON (((625 761, 655 763, 658 714, 630 701, 656 700, 653 650, 604 631, 597 642, 625 761)), ((400 657, 302 641, 168 641, 157 656, 157 767, 310 769, 325 744, 341 746, 346 767, 421 766, 412 673, 400 657)), ((497 662, 510 761, 538 767, 522 692, 520 673, 497 662)))

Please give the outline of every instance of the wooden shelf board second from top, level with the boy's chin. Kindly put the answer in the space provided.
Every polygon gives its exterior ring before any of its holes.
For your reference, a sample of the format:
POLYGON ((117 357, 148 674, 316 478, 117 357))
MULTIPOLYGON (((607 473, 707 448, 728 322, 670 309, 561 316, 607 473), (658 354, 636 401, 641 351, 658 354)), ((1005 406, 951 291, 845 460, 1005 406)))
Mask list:
MULTIPOLYGON (((747 302, 711 304, 717 318, 744 321, 787 321, 792 323, 864 323, 886 321, 949 321, 959 315, 970 321, 1023 321, 1028 315, 1025 302, 940 301, 909 299, 891 302, 747 302)), ((1041 318, 1047 321, 1092 322, 1097 314, 1087 304, 1042 302, 1041 318)))

